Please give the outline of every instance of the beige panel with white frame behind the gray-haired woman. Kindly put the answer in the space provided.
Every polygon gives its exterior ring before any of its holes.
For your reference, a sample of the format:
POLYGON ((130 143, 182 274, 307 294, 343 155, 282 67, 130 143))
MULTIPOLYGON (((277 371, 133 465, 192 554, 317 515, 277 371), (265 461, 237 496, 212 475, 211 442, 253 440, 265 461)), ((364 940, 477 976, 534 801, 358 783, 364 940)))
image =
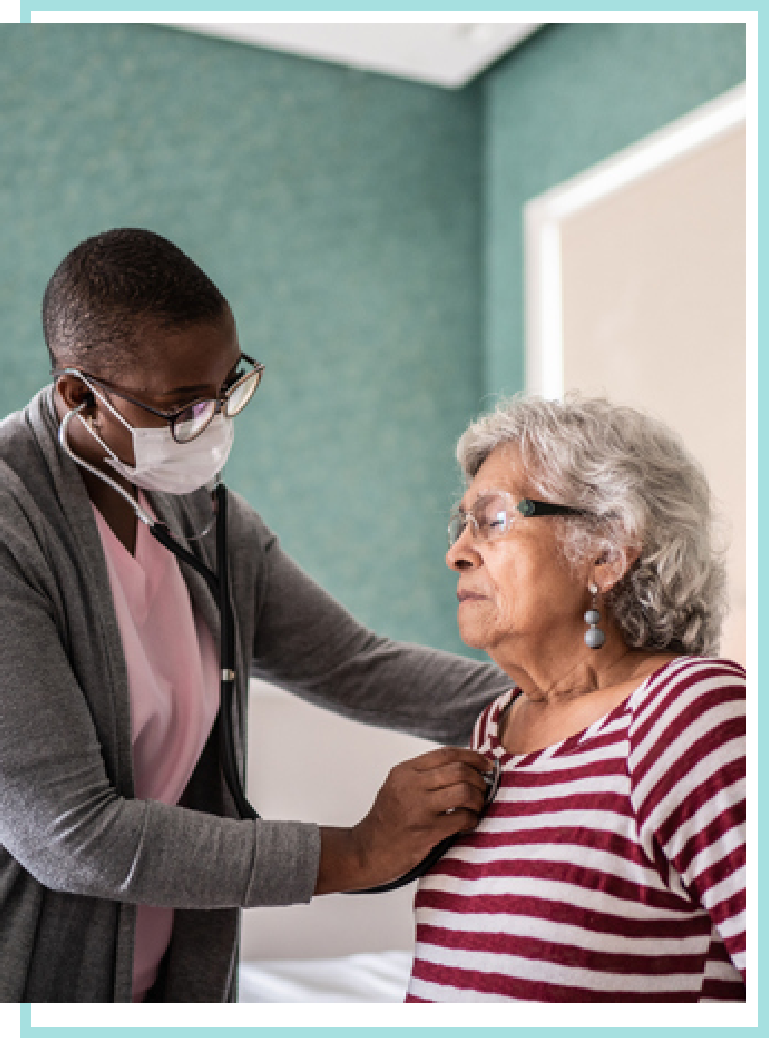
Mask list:
MULTIPOLYGON (((555 378, 562 389, 605 392, 654 413, 705 467, 729 544, 731 608, 721 655, 744 664, 744 95, 742 118, 693 132, 697 119, 712 122, 718 110, 707 106, 603 164, 595 175, 604 190, 591 191, 586 174, 564 186, 559 211, 558 192, 550 193, 547 234, 559 271, 549 282, 540 278, 541 298, 532 305, 546 305, 548 293, 554 303, 549 320, 555 313, 558 327, 538 349, 540 357, 549 350, 551 359, 560 351, 555 378), (677 147, 677 134, 680 145, 680 135, 688 134, 689 145, 677 147), (667 151, 665 140, 672 144, 667 151), (644 164, 644 147, 656 147, 658 161, 644 164), (629 161, 640 172, 623 176, 629 161), (612 166, 620 172, 613 185, 612 166), (576 203, 562 204, 570 190, 576 203)), ((537 371, 530 374, 535 381, 537 371)))

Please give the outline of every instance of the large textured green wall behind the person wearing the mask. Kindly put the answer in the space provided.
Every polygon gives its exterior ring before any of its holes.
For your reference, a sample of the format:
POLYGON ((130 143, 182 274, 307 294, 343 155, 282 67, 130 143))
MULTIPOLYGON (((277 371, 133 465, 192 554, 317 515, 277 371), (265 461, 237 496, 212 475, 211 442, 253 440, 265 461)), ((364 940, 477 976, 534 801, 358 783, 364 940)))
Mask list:
POLYGON ((379 630, 462 649, 445 517, 480 393, 482 112, 149 25, 0 26, 0 413, 39 301, 105 227, 188 251, 267 364, 227 481, 379 630))

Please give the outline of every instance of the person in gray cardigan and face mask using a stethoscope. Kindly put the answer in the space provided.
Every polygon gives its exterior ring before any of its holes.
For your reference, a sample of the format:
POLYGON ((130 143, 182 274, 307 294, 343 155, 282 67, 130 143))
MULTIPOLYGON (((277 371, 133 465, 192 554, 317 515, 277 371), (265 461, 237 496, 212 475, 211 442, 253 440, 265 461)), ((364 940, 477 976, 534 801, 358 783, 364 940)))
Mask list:
POLYGON ((0 1000, 235 1001, 240 908, 388 882, 474 827, 488 761, 460 746, 509 682, 361 627, 230 493, 240 769, 250 673, 458 744, 393 768, 352 827, 241 818, 217 603, 137 509, 217 569, 205 485, 263 366, 147 230, 73 249, 43 321, 54 383, 0 425, 0 1000))

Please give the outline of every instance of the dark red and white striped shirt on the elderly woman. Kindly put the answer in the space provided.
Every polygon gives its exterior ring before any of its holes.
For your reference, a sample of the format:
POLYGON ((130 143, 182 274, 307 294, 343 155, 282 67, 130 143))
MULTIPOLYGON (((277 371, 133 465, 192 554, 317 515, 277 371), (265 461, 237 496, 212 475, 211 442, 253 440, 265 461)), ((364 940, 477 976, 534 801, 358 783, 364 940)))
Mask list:
POLYGON ((745 999, 745 672, 680 657, 583 732, 473 746, 495 801, 420 881, 407 1002, 745 999))

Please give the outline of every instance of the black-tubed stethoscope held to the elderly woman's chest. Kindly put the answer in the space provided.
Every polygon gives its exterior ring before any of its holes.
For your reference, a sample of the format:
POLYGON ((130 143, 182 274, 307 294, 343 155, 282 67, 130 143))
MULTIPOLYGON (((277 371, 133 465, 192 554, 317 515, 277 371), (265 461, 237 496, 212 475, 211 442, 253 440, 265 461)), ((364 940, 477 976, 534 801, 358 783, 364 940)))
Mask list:
MULTIPOLYGON (((136 513, 137 519, 147 526, 149 532, 156 541, 159 541, 160 544, 175 555, 180 562, 186 563, 200 574, 209 585, 211 594, 214 597, 214 601, 217 603, 219 608, 219 756, 221 759, 222 774, 224 775, 224 781, 226 782, 227 788, 232 797, 232 802, 235 803, 241 818, 258 819, 260 816, 257 815, 251 807, 243 788, 243 778, 238 768, 235 753, 235 741, 232 738, 232 700, 235 698, 236 687, 236 645, 235 620, 232 616, 232 603, 229 595, 229 568, 227 566, 227 489, 221 480, 217 480, 211 492, 214 506, 214 521, 216 523, 216 571, 214 571, 205 566, 205 564, 202 563, 197 555, 191 552, 188 548, 185 548, 184 545, 180 544, 178 541, 172 536, 168 526, 159 519, 153 518, 153 516, 145 512, 139 502, 134 500, 132 495, 123 490, 123 488, 115 480, 112 480, 105 472, 102 472, 100 469, 95 468, 95 466, 90 465, 88 462, 84 461, 75 454, 66 442, 66 426, 67 422, 72 420, 74 415, 81 411, 85 406, 85 404, 81 404, 80 407, 77 407, 72 411, 67 411, 64 415, 61 425, 59 426, 59 443, 62 448, 76 464, 88 469, 100 480, 108 483, 114 490, 117 491, 118 494, 125 497, 136 513)), ((201 534, 197 535, 198 538, 209 532, 211 526, 209 525, 201 534)), ((497 789, 499 788, 499 762, 494 759, 492 763, 492 774, 489 776, 484 775, 484 780, 487 784, 484 810, 486 810, 486 808, 488 808, 494 799, 497 789)), ((436 844, 430 853, 422 858, 418 865, 414 866, 413 869, 405 875, 400 876, 397 879, 393 879, 388 883, 382 883, 379 886, 370 886, 361 891, 350 891, 349 893, 385 894, 388 891, 394 891, 399 886, 405 886, 407 883, 413 882, 415 879, 418 879, 419 876, 424 875, 424 873, 446 853, 448 848, 452 846, 461 835, 461 832, 452 834, 450 837, 446 837, 444 840, 441 840, 441 842, 436 844)))

